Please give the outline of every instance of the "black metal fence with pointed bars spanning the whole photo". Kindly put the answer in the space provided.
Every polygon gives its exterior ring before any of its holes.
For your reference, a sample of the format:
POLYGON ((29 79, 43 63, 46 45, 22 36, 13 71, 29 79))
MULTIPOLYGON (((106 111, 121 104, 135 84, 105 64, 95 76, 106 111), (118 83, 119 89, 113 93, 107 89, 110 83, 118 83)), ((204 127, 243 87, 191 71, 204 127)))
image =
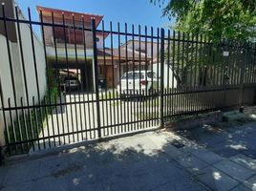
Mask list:
POLYGON ((52 12, 45 21, 39 11, 40 21, 32 21, 30 10, 28 20, 20 19, 17 7, 14 15, 2 6, 0 43, 8 62, 1 65, 10 77, 1 76, 1 115, 11 155, 255 104, 254 43, 214 43, 195 33, 103 21, 97 26, 94 18, 88 27, 84 17, 65 13, 52 12), (44 71, 38 70, 33 30, 41 32, 44 71), (26 43, 30 53, 24 53, 26 43), (14 56, 12 49, 18 50, 14 56), (16 56, 19 62, 13 62, 16 56))

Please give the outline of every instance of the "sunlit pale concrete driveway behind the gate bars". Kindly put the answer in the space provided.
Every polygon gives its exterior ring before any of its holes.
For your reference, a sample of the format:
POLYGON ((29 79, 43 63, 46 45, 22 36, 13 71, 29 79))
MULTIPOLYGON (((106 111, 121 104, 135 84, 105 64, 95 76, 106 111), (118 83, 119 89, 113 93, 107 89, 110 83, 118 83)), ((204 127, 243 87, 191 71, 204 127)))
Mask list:
MULTIPOLYGON (((105 93, 100 94, 100 98, 106 98, 105 93)), ((101 137, 156 128, 159 125, 157 100, 144 102, 100 100, 101 137), (149 117, 157 119, 149 119, 149 117), (139 120, 144 122, 138 122, 139 120)), ((46 138, 34 142, 35 150, 39 147, 50 148, 98 138, 96 95, 67 95, 62 97, 62 103, 65 102, 66 105, 53 109, 53 116, 49 115, 44 121, 44 130, 39 137, 46 138)))

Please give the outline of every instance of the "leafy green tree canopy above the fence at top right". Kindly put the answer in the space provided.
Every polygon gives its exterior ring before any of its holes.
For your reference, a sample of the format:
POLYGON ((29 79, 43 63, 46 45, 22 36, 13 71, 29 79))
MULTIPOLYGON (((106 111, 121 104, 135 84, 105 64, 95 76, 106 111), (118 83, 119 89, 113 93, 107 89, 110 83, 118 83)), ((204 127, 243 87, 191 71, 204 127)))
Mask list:
POLYGON ((255 40, 255 0, 151 0, 162 14, 176 19, 174 29, 208 35, 214 41, 223 38, 255 40))

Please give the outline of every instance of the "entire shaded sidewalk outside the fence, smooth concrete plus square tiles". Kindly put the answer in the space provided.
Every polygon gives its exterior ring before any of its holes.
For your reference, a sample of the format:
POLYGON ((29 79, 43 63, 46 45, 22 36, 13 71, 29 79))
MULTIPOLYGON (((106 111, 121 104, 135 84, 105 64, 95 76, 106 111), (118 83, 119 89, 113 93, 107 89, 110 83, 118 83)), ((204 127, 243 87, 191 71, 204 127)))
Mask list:
POLYGON ((255 137, 246 123, 117 138, 2 167, 0 189, 256 190, 255 137))

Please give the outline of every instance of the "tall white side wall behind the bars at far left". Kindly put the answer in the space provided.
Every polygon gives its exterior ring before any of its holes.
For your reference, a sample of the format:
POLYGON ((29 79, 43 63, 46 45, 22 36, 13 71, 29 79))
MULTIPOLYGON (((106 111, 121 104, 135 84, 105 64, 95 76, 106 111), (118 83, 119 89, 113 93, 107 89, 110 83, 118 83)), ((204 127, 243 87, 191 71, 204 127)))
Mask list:
MULTIPOLYGON (((23 15, 20 14, 19 17, 24 19, 23 15)), ((37 99, 37 91, 36 91, 36 80, 35 80, 35 71, 34 71, 34 61, 32 55, 32 40, 31 40, 31 31, 27 24, 20 24, 21 30, 21 38, 22 38, 22 48, 24 55, 24 63, 26 68, 26 77, 28 82, 28 92, 29 92, 29 102, 32 105, 32 96, 35 98, 35 103, 38 103, 37 99)), ((16 29, 17 33, 17 29, 16 29)), ((33 41, 34 41, 34 50, 35 50, 35 58, 36 58, 36 66, 37 66, 37 74, 38 74, 38 83, 39 83, 39 91, 40 98, 42 99, 46 92, 46 61, 44 57, 44 49, 42 42, 35 36, 33 33, 33 41)), ((14 88, 16 92, 17 106, 20 106, 20 97, 23 97, 24 105, 26 105, 26 94, 25 94, 25 83, 24 83, 24 75, 22 70, 22 62, 21 62, 21 54, 19 49, 20 42, 11 42, 11 62, 12 62, 12 72, 14 77, 14 88)), ((14 106, 14 96, 12 91, 12 82, 11 82, 11 67, 10 67, 10 59, 9 53, 6 43, 6 36, 0 34, 0 77, 1 84, 3 89, 3 100, 4 107, 8 107, 8 99, 11 98, 11 106, 14 106)), ((1 101, 0 101, 1 102, 1 101)), ((0 103, 0 107, 2 104, 0 103)), ((21 111, 18 111, 19 114, 21 111)), ((10 124, 10 113, 6 112, 7 123, 10 124)), ((13 119, 15 119, 15 112, 11 113, 13 119)), ((0 144, 4 144, 3 142, 3 131, 5 128, 3 113, 0 112, 0 144)))

